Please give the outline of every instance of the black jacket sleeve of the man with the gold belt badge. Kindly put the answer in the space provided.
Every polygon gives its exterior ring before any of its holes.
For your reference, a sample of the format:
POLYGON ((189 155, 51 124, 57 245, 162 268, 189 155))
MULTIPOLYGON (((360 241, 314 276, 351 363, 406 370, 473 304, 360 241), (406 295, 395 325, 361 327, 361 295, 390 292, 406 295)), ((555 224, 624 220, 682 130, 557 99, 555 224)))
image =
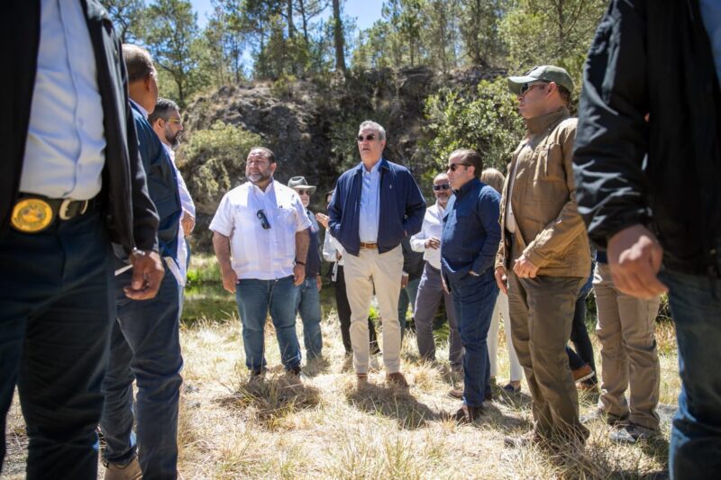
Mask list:
MULTIPOLYGON (((118 51, 121 46, 118 45, 118 51)), ((122 57, 121 57, 122 58, 122 57)), ((138 151, 138 135, 135 131, 135 120, 130 106, 128 96, 128 76, 125 70, 125 62, 120 62, 123 73, 123 96, 125 104, 125 125, 128 132, 128 158, 130 168, 130 188, 132 204, 132 237, 135 240, 135 247, 141 250, 158 249, 158 213, 155 205, 148 194, 148 185, 145 179, 145 168, 142 166, 142 158, 138 151)))

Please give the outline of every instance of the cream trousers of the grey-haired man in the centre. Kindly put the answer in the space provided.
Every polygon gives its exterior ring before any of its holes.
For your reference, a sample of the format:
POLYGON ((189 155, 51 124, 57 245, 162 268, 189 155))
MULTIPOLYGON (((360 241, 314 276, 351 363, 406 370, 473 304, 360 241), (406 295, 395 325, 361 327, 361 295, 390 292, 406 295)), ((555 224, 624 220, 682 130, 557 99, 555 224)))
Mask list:
POLYGON ((358 257, 345 255, 346 293, 351 304, 351 345, 353 366, 358 374, 368 373, 368 313, 375 287, 383 322, 383 363, 389 374, 400 371, 400 323, 398 296, 403 275, 403 250, 379 254, 377 249, 360 249, 358 257))

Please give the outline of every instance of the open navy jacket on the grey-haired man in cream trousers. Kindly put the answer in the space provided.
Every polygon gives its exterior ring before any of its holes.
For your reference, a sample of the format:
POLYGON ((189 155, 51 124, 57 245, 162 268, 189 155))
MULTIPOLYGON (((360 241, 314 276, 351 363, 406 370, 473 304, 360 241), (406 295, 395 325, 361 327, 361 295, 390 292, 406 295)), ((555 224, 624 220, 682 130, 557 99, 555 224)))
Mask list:
MULTIPOLYGON (((395 249, 404 239, 421 231, 425 200, 421 189, 407 168, 380 159, 379 253, 395 249)), ((343 249, 358 256, 360 251, 360 189, 363 183, 362 162, 347 170, 335 184, 333 200, 328 206, 331 235, 343 249)))

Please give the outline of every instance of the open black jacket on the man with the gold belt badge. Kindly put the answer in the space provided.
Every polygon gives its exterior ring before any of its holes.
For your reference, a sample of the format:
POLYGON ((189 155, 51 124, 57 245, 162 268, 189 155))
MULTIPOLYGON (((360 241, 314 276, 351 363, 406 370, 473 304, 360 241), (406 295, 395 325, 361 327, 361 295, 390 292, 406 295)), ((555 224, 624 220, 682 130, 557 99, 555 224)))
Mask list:
MULTIPOLYGON (((105 169, 102 198, 111 239, 129 251, 158 249, 158 215, 148 195, 128 103, 121 44, 97 0, 82 2, 93 42, 104 111, 105 169)), ((23 171, 40 45, 40 1, 4 2, 0 17, 0 238, 10 222, 23 171)))

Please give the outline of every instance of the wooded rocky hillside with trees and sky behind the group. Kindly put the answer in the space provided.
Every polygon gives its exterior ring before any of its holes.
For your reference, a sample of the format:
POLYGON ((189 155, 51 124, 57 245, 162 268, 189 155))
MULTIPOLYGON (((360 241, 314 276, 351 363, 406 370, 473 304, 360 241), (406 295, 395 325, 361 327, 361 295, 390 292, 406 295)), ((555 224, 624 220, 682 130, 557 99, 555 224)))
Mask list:
MULTIPOLYGON (((350 0, 348 0, 350 1, 350 0)), ((151 51, 160 95, 178 102, 178 159, 198 205, 196 238, 244 181, 252 145, 273 149, 277 178, 319 192, 358 161, 358 124, 388 130, 386 157, 424 187, 448 154, 478 149, 505 172, 523 135, 507 75, 566 68, 576 86, 605 0, 388 0, 360 29, 347 0, 101 0, 124 42, 151 51), (203 25, 203 26, 201 26, 203 25)), ((575 102, 579 88, 573 92, 575 102)), ((312 210, 324 208, 315 195, 312 210)))

